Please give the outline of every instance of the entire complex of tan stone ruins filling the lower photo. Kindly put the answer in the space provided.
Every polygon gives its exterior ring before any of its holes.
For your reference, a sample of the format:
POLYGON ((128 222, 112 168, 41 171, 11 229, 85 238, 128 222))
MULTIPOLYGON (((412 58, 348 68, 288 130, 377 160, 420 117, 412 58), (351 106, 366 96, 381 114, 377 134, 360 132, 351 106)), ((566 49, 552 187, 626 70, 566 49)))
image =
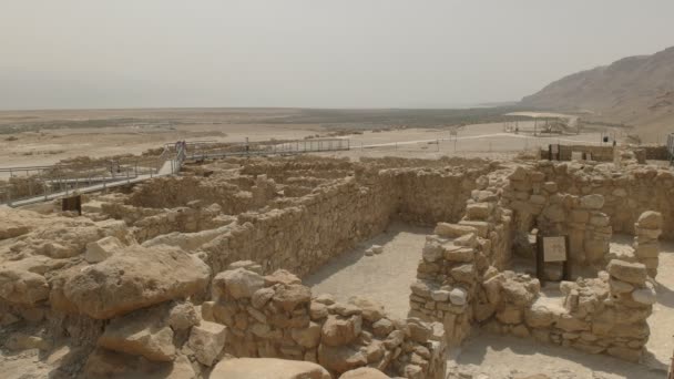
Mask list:
POLYGON ((0 209, 0 335, 54 378, 439 379, 477 328, 639 361, 673 188, 671 171, 636 164, 187 165, 90 195, 83 216, 0 209), (435 228, 410 255, 407 318, 303 285, 392 222, 435 228), (632 247, 612 250, 614 234, 632 247), (571 277, 551 263, 542 284, 533 240, 558 235, 571 277))

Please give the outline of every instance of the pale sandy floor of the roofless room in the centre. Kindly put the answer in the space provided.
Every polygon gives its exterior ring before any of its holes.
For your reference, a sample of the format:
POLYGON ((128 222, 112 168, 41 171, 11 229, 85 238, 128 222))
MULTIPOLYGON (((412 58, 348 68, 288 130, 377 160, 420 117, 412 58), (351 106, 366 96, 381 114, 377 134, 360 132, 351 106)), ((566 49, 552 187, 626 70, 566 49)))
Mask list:
POLYGON ((409 286, 417 276, 417 265, 426 235, 431 229, 395 223, 353 252, 331 260, 304 283, 314 294, 333 294, 340 301, 354 295, 378 300, 394 316, 406 318, 409 286), (365 250, 381 245, 384 253, 366 256, 365 250))

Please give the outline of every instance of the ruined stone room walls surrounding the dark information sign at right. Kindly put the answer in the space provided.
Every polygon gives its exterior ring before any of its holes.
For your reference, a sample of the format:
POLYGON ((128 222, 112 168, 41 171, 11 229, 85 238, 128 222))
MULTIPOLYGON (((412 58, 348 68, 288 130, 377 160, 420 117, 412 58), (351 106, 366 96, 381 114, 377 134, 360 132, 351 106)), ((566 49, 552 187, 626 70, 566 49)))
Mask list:
MULTIPOLYGON (((650 336, 646 318, 656 299, 652 278, 657 274, 663 216, 646 211, 630 218, 635 231, 633 250, 615 256, 609 246, 612 218, 603 212, 603 194, 623 192, 613 187, 594 193, 607 186, 603 182, 607 178, 588 180, 589 175, 581 174, 574 182, 584 186, 572 190, 574 194, 564 193, 570 190, 566 174, 579 170, 569 165, 538 162, 480 177, 462 221, 439 223, 427 238, 417 281, 411 285, 410 314, 442 322, 450 345, 460 344, 473 326, 480 326, 491 332, 640 360, 650 336), (556 173, 563 173, 561 180, 556 173), (518 248, 529 249, 525 257, 534 260, 532 231, 569 235, 569 258, 576 265, 593 265, 596 278, 561 281, 562 296, 549 297, 537 278, 506 269, 511 265, 511 247, 515 254, 518 248), (499 240, 506 240, 506 248, 493 248, 502 246, 499 240)), ((635 170, 616 183, 642 187, 636 184, 640 180, 657 177, 635 170)), ((662 172, 663 182, 666 174, 662 172)))

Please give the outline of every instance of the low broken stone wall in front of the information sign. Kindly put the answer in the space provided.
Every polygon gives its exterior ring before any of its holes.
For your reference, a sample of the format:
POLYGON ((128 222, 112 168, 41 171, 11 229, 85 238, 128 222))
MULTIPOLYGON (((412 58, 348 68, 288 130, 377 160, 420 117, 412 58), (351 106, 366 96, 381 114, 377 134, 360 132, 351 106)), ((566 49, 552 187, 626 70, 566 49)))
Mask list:
POLYGON ((643 264, 613 259, 606 269, 595 279, 562 281, 563 300, 540 296, 538 279, 500 273, 484 281, 497 308, 486 328, 637 361, 650 335, 654 287, 643 264))

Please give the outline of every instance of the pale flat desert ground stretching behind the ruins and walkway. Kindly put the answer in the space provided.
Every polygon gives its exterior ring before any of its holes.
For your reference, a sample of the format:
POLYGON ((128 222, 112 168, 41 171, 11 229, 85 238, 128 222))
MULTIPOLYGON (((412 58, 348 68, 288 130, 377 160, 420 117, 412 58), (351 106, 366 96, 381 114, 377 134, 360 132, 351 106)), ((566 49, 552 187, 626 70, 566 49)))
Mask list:
MULTIPOLYGON (((296 113, 296 110, 235 109, 0 112, 0 129, 16 127, 12 125, 21 122, 45 125, 71 125, 90 121, 102 123, 96 127, 45 127, 0 134, 0 167, 48 165, 83 155, 102 157, 140 154, 178 140, 242 143, 246 137, 252 142, 300 140, 309 135, 325 137, 337 127, 326 126, 330 120, 325 120, 326 124, 318 121, 302 124, 265 123, 268 119, 278 121, 296 113)), ((456 135, 450 135, 450 127, 445 126, 365 131, 362 134, 344 136, 350 141, 353 148, 349 152, 327 155, 351 158, 385 155, 507 158, 549 143, 600 142, 598 133, 534 137, 531 135, 533 122, 520 122, 519 134, 506 133, 506 126, 504 123, 467 125, 460 127, 456 135)))

